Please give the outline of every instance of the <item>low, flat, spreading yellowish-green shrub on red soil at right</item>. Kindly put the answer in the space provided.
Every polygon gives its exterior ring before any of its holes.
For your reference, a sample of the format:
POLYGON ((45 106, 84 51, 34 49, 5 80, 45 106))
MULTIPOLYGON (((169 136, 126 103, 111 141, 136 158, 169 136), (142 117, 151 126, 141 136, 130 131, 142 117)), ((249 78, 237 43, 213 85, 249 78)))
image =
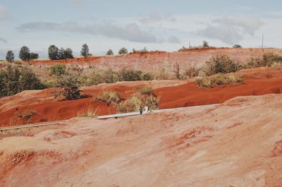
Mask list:
POLYGON ((204 78, 196 79, 197 85, 202 88, 214 88, 215 85, 236 85, 244 83, 243 76, 232 76, 224 74, 216 74, 204 78))

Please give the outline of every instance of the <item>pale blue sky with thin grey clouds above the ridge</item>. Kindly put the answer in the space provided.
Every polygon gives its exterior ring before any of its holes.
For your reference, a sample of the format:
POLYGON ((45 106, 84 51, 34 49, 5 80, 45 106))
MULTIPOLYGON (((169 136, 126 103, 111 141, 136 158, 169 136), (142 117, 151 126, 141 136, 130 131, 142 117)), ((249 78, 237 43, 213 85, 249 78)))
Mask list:
POLYGON ((281 47, 281 0, 0 0, 0 59, 27 46, 48 58, 48 47, 87 43, 107 50, 177 51, 199 46, 281 47))

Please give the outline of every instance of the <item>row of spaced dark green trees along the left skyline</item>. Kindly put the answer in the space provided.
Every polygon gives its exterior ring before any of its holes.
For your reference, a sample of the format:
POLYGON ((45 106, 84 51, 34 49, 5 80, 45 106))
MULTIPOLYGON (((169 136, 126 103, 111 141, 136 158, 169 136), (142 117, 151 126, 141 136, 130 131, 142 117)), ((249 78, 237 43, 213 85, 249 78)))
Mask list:
MULTIPOLYGON (((133 52, 135 52, 134 49, 133 49, 133 52)), ((128 54, 128 49, 126 49, 125 47, 122 47, 118 51, 118 54, 128 54)), ((107 56, 114 55, 114 51, 112 49, 109 49, 109 51, 107 51, 105 55, 107 55, 107 56)), ((68 47, 66 49, 63 49, 63 47, 61 47, 59 49, 54 44, 49 46, 48 56, 49 56, 49 59, 51 59, 51 60, 73 59, 74 58, 73 57, 73 50, 71 48, 68 47)), ((82 45, 82 48, 81 48, 81 51, 80 51, 80 56, 83 56, 83 57, 92 56, 87 44, 82 45)), ((38 59, 39 54, 34 53, 34 52, 30 52, 30 49, 28 47, 23 46, 23 47, 20 48, 20 52, 19 52, 18 57, 22 61, 32 61, 32 60, 38 59)), ((9 50, 6 54, 6 61, 8 61, 8 62, 15 61, 15 54, 11 50, 9 50)))

